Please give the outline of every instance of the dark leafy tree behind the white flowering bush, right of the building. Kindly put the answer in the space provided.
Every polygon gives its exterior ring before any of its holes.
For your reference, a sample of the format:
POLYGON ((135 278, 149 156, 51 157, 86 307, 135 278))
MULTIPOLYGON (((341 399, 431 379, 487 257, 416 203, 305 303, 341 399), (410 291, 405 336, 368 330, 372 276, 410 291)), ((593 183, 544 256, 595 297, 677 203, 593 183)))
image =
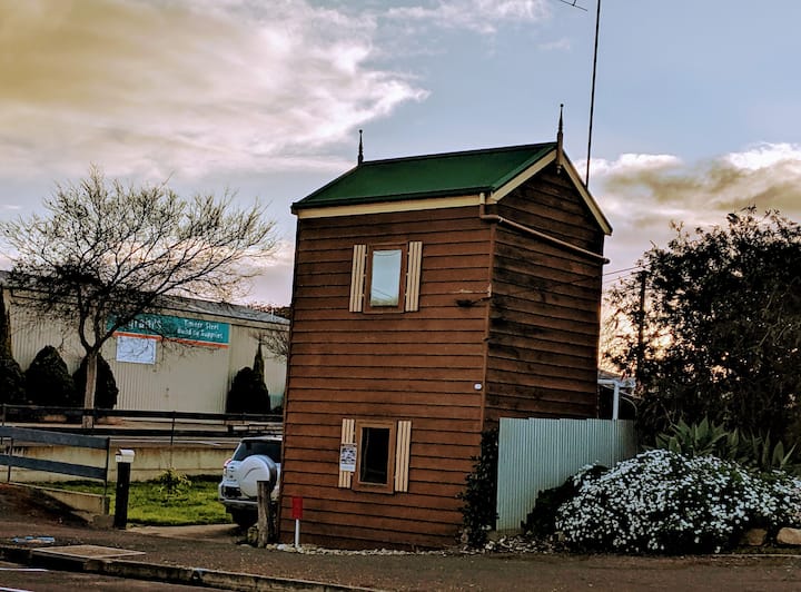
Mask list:
POLYGON ((676 226, 643 272, 611 294, 620 327, 610 357, 635 374, 639 425, 653 437, 680 420, 798 437, 801 226, 753 209, 728 225, 676 226))

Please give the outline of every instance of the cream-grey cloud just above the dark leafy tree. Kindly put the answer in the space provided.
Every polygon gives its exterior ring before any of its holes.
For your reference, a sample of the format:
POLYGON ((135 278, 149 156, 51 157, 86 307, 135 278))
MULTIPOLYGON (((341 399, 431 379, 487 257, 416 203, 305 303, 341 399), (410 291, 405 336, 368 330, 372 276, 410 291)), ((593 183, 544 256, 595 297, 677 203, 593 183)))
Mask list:
POLYGON ((801 146, 761 144, 698 162, 672 155, 623 155, 592 161, 593 185, 614 227, 611 268, 632 265, 652 244, 688 229, 725 224, 742 208, 777 209, 801 219, 801 146))

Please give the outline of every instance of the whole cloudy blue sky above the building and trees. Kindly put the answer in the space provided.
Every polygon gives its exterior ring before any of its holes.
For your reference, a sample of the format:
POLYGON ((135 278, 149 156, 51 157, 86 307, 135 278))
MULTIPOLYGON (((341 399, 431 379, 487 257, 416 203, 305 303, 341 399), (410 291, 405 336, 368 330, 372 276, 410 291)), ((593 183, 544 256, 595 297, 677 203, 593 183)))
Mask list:
MULTIPOLYGON (((587 161, 596 0, 0 0, 0 219, 90 166, 290 205, 365 158, 553 141, 587 161), (573 6, 575 4, 575 6, 573 6)), ((590 189, 607 283, 743 207, 801 220, 801 2, 605 0, 590 189)), ((8 254, 7 254, 8 255, 8 254)), ((8 268, 0 256, 0 267, 8 268)))

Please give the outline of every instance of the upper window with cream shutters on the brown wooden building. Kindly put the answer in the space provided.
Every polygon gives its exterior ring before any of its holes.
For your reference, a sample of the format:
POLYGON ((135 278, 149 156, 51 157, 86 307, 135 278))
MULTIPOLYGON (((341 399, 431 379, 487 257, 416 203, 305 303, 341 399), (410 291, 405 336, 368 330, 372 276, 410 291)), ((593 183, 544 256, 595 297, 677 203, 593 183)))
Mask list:
POLYGON ((354 245, 352 313, 417 310, 423 244, 354 245))

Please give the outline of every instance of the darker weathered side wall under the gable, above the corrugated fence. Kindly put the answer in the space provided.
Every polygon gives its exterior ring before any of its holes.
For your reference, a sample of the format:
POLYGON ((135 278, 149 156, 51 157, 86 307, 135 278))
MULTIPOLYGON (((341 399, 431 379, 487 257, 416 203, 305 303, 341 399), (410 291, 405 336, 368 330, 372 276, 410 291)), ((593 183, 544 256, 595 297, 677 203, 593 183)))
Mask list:
MULTIPOLYGON (((599 255, 603 233, 572 187, 546 169, 498 215, 599 255)), ((602 264, 501 225, 495 236, 487 416, 595 414, 602 264), (523 387, 523 388, 521 388, 523 387)))

